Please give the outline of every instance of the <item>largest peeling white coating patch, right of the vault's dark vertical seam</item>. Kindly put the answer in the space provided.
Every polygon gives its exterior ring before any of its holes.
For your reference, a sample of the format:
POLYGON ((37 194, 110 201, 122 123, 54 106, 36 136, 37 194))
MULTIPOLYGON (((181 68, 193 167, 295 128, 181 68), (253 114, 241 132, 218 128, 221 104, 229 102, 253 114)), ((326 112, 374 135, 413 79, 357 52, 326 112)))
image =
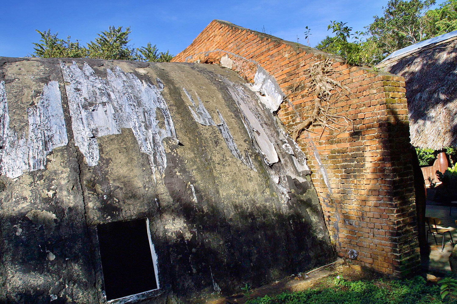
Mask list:
POLYGON ((115 67, 107 69, 107 79, 96 76, 84 63, 67 66, 61 63, 69 101, 74 140, 89 166, 98 163, 96 137, 120 134, 121 128, 131 128, 140 151, 149 155, 153 171, 166 167, 163 139, 176 139, 175 126, 165 99, 156 86, 141 82, 138 77, 115 67), (165 129, 159 128, 156 110, 164 117, 165 129))

